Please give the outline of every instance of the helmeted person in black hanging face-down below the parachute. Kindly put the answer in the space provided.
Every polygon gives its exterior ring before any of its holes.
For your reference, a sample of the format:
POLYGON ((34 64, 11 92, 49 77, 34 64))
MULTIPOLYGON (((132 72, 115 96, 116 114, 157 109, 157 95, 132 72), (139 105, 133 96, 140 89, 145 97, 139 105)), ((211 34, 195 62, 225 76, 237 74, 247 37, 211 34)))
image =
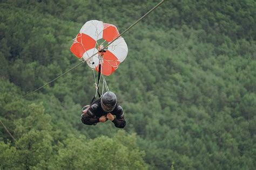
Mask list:
POLYGON ((126 124, 123 108, 117 104, 117 96, 112 91, 104 93, 90 106, 86 105, 82 111, 81 121, 86 125, 105 123, 107 120, 112 121, 117 128, 124 128, 126 124))

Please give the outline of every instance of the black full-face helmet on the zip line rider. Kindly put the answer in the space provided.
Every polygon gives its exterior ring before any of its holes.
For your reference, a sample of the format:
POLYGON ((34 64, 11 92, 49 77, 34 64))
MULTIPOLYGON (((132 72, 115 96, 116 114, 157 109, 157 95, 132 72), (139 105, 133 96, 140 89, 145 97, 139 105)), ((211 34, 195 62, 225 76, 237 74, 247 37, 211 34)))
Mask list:
POLYGON ((100 105, 106 112, 111 112, 117 105, 117 96, 112 91, 107 91, 100 99, 100 105))

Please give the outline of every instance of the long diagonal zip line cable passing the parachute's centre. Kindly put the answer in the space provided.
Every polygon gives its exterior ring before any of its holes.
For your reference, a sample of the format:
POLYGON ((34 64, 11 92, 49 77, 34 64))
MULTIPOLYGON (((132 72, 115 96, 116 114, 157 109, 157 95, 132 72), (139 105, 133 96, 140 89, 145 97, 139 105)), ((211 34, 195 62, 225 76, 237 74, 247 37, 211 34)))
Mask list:
MULTIPOLYGON (((159 2, 159 3, 158 3, 156 6, 154 6, 150 11, 148 11, 147 13, 145 13, 144 16, 140 17, 135 23, 133 23, 133 24, 132 24, 131 26, 129 26, 124 32, 122 32, 117 38, 113 39, 109 44, 107 44, 105 47, 103 47, 103 49, 106 49, 108 46, 110 46, 110 44, 112 44, 114 41, 116 41, 119 37, 121 37, 121 36, 122 36, 124 33, 126 33, 128 30, 130 30, 134 25, 136 25, 138 22, 140 22, 140 20, 142 20, 143 18, 145 18, 147 15, 149 15, 150 12, 152 12, 153 10, 155 10, 156 8, 158 8, 158 6, 160 6, 163 2, 164 2, 164 0, 162 0, 161 2, 159 2)), ((56 78, 53 79, 52 81, 50 81, 50 82, 44 84, 43 86, 41 86, 41 87, 39 87, 39 88, 37 88, 37 89, 31 91, 30 93, 24 95, 23 97, 26 97, 26 96, 28 96, 28 95, 30 95, 30 94, 32 94, 32 93, 35 93, 35 92, 38 91, 39 89, 42 89, 43 87, 47 86, 47 85, 50 84, 51 82, 53 82, 53 81, 59 79, 60 77, 62 77, 62 76, 65 75, 66 73, 71 72, 71 70, 73 70, 73 69, 75 69, 76 67, 82 65, 82 63, 84 63, 84 62, 86 62, 87 60, 91 59, 91 58, 92 58, 93 56, 95 56, 96 54, 98 54, 98 52, 95 53, 95 54, 93 54, 92 56, 90 56, 90 57, 87 58, 86 60, 84 60, 84 61, 78 63, 78 65, 72 67, 71 69, 69 69, 69 70, 66 71, 65 73, 60 74, 58 77, 56 77, 56 78)), ((22 98, 23 98, 23 97, 22 97, 22 98)))

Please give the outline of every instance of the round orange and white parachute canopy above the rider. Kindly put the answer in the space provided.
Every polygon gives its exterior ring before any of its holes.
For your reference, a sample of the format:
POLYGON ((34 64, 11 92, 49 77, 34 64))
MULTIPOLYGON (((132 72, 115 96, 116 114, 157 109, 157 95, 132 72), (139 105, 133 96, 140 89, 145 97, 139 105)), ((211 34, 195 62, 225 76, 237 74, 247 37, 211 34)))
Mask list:
POLYGON ((128 53, 127 44, 122 37, 113 41, 106 48, 103 56, 100 56, 100 53, 91 56, 98 52, 99 47, 105 47, 118 36, 119 32, 116 26, 99 20, 89 20, 80 29, 70 51, 78 58, 83 58, 87 65, 95 68, 98 72, 99 63, 102 63, 102 74, 111 75, 118 68, 120 62, 125 60, 128 53))

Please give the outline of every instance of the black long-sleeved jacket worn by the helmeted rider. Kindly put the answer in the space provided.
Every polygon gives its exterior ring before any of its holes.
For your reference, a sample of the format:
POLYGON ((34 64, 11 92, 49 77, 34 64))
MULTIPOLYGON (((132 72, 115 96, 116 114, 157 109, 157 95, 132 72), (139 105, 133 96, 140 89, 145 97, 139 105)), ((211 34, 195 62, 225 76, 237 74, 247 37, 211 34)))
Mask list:
MULTIPOLYGON (((82 115, 81 121, 86 125, 93 125, 99 122, 101 116, 106 116, 109 112, 106 112, 100 106, 100 98, 93 102, 90 108, 85 114, 82 115)), ((113 111, 110 112, 112 115, 115 115, 116 118, 112 121, 114 126, 117 128, 124 128, 126 122, 124 119, 123 108, 117 104, 113 111)))

